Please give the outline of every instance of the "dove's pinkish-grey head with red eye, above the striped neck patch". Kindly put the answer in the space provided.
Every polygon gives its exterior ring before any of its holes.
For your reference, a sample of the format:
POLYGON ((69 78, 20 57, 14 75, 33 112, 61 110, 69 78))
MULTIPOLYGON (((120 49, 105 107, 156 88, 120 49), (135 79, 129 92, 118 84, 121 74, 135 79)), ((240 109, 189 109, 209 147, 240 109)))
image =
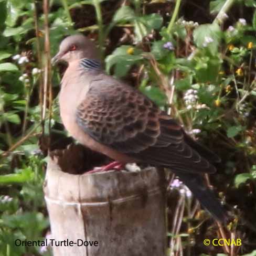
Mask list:
POLYGON ((78 34, 63 39, 58 54, 51 61, 52 63, 58 61, 70 63, 84 58, 99 60, 99 54, 93 41, 78 34))

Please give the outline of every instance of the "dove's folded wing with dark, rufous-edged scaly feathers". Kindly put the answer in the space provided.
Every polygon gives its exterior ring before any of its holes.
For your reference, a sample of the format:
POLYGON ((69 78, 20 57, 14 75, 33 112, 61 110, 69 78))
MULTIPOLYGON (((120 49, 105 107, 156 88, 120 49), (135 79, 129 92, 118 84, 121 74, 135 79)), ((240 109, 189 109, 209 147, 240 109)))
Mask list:
POLYGON ((91 83, 76 121, 94 140, 142 162, 182 172, 215 172, 186 143, 187 135, 176 121, 142 93, 111 77, 91 83))

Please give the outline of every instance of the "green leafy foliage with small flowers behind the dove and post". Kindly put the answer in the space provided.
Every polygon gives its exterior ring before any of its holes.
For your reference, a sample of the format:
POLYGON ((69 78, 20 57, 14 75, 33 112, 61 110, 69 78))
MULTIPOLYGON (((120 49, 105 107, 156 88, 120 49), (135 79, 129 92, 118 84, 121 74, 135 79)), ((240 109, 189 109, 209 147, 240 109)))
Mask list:
POLYGON ((170 186, 168 255, 256 255, 255 7, 254 0, 1 0, 0 255, 51 255, 14 241, 49 233, 46 153, 70 142, 57 97, 65 67, 52 70, 50 55, 78 31, 98 43, 106 72, 143 91, 222 158, 210 180, 230 222, 216 225, 170 186), (241 238, 242 246, 202 244, 216 237, 241 238))

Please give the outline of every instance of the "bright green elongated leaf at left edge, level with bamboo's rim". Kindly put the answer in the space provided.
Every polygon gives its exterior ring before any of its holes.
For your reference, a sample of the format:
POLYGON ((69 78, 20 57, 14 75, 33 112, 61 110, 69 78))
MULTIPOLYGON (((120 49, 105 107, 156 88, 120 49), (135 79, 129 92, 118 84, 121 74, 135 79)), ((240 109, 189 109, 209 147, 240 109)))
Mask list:
POLYGON ((0 184, 24 183, 34 178, 31 167, 23 169, 19 173, 0 175, 0 184))

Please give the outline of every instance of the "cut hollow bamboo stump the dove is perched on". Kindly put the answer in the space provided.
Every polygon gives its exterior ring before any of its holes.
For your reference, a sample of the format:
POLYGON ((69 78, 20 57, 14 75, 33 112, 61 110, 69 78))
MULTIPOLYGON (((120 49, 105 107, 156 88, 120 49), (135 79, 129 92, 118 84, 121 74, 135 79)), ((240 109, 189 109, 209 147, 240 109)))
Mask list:
POLYGON ((51 238, 64 241, 54 256, 166 254, 163 172, 74 175, 49 159, 44 192, 51 238))

